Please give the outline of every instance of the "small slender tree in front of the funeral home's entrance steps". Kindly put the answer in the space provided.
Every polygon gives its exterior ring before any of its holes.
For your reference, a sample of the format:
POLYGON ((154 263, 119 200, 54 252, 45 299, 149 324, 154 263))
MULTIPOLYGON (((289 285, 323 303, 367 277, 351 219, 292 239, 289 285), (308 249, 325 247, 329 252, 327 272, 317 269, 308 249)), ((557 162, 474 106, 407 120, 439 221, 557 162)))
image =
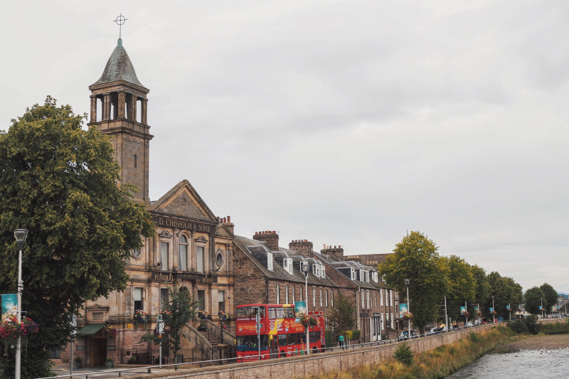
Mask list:
POLYGON ((194 301, 185 287, 181 289, 170 289, 169 300, 165 300, 162 304, 162 315, 164 320, 165 331, 164 336, 157 334, 147 334, 142 336, 141 341, 151 343, 166 343, 170 344, 170 348, 174 351, 174 356, 178 355, 182 347, 182 329, 186 327, 188 321, 196 316, 196 309, 198 308, 199 301, 194 301))

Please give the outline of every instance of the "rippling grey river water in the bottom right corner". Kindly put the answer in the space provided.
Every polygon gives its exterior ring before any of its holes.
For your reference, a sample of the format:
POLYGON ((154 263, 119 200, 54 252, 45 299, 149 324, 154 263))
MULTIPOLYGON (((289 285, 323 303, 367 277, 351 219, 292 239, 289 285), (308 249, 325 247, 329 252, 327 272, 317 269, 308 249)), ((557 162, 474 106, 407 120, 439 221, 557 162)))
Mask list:
POLYGON ((447 378, 565 379, 569 378, 569 348, 486 354, 447 378))

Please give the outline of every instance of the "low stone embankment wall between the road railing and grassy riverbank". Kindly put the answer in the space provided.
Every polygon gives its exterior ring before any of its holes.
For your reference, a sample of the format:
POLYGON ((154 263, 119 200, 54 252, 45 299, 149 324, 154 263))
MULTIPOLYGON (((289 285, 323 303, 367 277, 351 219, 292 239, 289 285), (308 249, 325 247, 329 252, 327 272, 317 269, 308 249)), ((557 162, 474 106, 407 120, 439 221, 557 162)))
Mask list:
MULTIPOLYGON (((450 333, 437 334, 409 341, 415 353, 430 351, 438 346, 458 341, 469 332, 481 332, 494 327, 494 324, 475 326, 450 333)), ((223 366, 179 369, 170 375, 145 375, 144 378, 192 378, 192 379, 279 379, 303 378, 309 375, 319 375, 329 371, 347 370, 361 365, 370 365, 393 358, 395 348, 399 343, 386 343, 363 348, 348 346, 342 351, 334 348, 327 353, 280 358, 260 362, 235 363, 223 366)))

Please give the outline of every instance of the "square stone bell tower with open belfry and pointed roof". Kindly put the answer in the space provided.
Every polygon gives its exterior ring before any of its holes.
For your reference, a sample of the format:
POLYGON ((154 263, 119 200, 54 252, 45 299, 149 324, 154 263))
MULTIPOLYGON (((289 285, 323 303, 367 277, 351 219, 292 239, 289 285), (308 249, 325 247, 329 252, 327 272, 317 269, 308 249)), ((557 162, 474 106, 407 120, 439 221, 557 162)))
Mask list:
POLYGON ((101 78, 89 90, 91 114, 87 125, 110 137, 120 166, 120 182, 137 186, 134 199, 149 205, 149 143, 154 137, 147 122, 150 91, 139 82, 121 38, 101 78))

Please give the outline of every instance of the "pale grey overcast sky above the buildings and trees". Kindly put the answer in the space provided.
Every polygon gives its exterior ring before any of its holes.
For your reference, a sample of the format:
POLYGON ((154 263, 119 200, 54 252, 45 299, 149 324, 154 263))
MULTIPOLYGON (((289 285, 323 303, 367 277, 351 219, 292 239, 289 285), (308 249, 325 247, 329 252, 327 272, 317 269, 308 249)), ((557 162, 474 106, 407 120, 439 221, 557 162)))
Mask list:
POLYGON ((0 129, 89 112, 117 45, 150 89, 150 196, 346 255, 420 230, 569 292, 568 1, 5 1, 0 129))

